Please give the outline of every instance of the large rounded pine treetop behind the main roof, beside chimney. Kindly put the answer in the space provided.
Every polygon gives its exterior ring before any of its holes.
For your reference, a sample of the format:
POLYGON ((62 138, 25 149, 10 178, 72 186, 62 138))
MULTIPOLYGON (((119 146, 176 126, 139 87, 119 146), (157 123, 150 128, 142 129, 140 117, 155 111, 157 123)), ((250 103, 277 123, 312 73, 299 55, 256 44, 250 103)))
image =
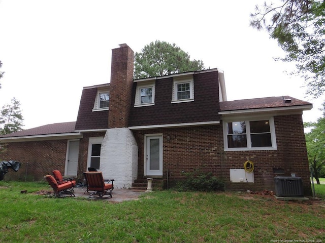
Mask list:
POLYGON ((155 41, 135 53, 134 78, 165 76, 205 69, 203 61, 190 60, 188 53, 175 44, 155 41))

